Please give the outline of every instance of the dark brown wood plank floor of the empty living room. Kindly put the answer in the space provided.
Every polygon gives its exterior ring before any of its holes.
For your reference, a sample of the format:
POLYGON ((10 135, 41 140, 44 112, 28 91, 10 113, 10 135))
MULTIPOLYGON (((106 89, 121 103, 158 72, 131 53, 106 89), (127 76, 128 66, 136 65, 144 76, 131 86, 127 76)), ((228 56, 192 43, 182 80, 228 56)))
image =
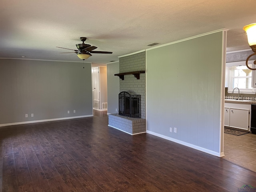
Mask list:
POLYGON ((152 136, 131 136, 94 117, 0 128, 3 192, 236 192, 256 174, 152 136))

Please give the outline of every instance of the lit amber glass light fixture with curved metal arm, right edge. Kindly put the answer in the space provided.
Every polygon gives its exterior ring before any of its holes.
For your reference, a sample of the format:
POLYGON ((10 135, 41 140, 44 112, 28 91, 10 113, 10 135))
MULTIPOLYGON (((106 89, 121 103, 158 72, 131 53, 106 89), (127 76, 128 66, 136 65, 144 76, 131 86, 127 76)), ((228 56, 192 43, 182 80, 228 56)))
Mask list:
MULTIPOLYGON (((247 34, 247 38, 248 38, 248 43, 250 45, 250 48, 252 49, 252 51, 254 52, 254 54, 251 54, 250 56, 248 56, 248 58, 246 59, 246 66, 248 69, 250 70, 256 70, 256 68, 250 68, 248 66, 248 60, 256 55, 256 23, 252 23, 250 25, 246 25, 244 26, 243 30, 246 31, 247 34)), ((256 64, 256 60, 253 62, 254 64, 256 64)))

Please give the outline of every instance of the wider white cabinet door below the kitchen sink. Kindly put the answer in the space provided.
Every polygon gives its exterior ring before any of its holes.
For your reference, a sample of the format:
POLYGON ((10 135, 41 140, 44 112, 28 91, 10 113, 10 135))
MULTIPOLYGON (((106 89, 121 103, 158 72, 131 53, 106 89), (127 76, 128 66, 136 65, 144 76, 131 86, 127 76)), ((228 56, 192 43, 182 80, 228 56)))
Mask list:
POLYGON ((248 109, 229 109, 229 126, 248 130, 249 128, 249 110, 248 109))

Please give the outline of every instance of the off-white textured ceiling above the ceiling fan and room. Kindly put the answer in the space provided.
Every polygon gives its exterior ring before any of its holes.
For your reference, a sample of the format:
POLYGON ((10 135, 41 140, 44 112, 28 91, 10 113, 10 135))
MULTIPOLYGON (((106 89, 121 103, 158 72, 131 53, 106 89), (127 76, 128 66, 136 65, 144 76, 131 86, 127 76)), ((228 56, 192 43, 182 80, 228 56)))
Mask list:
MULTIPOLYGON (((96 51, 86 62, 118 56, 206 32, 228 29, 227 51, 250 49, 243 26, 256 22, 255 0, 0 0, 0 57, 82 61, 86 44, 96 51)), ((210 45, 209 45, 210 46, 210 45)))

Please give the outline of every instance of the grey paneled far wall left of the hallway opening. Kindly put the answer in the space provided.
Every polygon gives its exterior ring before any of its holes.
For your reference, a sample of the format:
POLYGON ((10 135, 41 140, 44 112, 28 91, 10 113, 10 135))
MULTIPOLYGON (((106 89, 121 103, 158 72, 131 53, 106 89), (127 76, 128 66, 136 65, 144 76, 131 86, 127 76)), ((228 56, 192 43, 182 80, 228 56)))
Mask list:
POLYGON ((91 64, 0 59, 0 69, 0 125, 92 116, 91 64))

